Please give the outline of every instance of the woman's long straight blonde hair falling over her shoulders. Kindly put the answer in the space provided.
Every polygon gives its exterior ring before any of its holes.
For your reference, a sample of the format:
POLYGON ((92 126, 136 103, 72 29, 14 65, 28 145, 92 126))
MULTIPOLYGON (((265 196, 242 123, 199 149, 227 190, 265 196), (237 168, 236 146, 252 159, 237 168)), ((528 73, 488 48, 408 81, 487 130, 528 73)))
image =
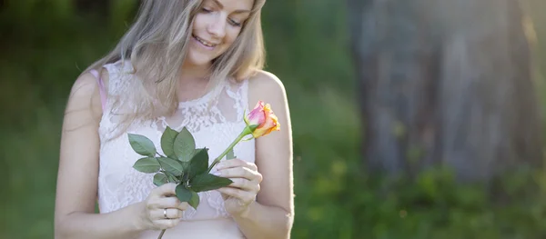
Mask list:
MULTIPOLYGON (((227 78, 240 81, 263 68, 265 50, 260 15, 264 4, 265 0, 254 0, 234 44, 213 60, 208 88, 227 78)), ((153 119, 176 111, 178 76, 187 56, 195 15, 202 5, 203 0, 142 1, 135 23, 116 47, 84 71, 102 69, 103 65, 117 61, 127 60, 131 64, 134 77, 130 78, 137 87, 124 95, 108 95, 112 108, 124 102, 132 104, 120 124, 128 127, 136 119, 153 119)))

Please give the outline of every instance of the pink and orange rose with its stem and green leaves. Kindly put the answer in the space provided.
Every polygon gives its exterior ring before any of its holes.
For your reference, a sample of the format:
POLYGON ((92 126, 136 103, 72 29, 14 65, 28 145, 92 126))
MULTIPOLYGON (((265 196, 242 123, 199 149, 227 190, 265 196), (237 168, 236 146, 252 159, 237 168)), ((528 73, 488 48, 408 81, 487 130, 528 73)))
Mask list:
MULTIPOLYGON (((208 164, 208 149, 196 148, 193 135, 186 127, 180 132, 167 126, 161 135, 161 148, 165 155, 157 152, 154 143, 144 135, 128 134, 129 144, 140 158, 133 165, 137 171, 145 174, 155 174, 154 184, 175 183, 177 198, 180 202, 186 202, 197 209, 199 204, 199 192, 206 192, 225 187, 234 182, 226 177, 209 174, 210 170, 220 162, 224 156, 227 159, 235 157, 233 147, 250 135, 249 140, 258 138, 273 131, 280 130, 278 119, 270 105, 264 105, 262 101, 248 114, 244 115, 247 124, 241 134, 227 147, 227 149, 208 164)), ((158 238, 162 238, 165 229, 158 238)))

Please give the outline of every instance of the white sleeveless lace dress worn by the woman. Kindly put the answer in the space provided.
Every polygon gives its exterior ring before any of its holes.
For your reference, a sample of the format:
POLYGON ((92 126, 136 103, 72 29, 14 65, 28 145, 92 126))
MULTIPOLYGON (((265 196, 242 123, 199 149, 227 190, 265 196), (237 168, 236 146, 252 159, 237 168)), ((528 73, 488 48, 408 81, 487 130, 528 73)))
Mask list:
MULTIPOLYGON (((108 70, 110 95, 124 94, 131 87, 129 64, 109 64, 108 70)), ((142 156, 131 148, 127 134, 142 134, 151 139, 157 151, 161 150, 160 137, 165 127, 179 131, 186 126, 194 135, 196 146, 209 148, 210 162, 227 148, 245 127, 243 114, 248 112, 248 83, 226 82, 217 91, 193 101, 180 104, 177 114, 170 118, 158 118, 154 121, 140 122, 130 127, 126 133, 116 135, 116 115, 110 113, 111 102, 106 100, 104 114, 100 122, 100 167, 98 176, 98 203, 101 214, 116 211, 129 204, 141 202, 156 187, 154 174, 144 174, 132 166, 142 156), (217 95, 215 103, 208 99, 217 95)), ((241 142, 234 148, 240 159, 254 162, 255 142, 241 142)), ((212 170, 215 171, 214 169, 212 170)), ((197 211, 188 207, 183 221, 177 227, 170 228, 163 238, 244 238, 238 225, 224 209, 224 201, 219 192, 199 193, 200 203, 197 211)), ((148 231, 138 238, 157 238, 160 231, 148 231)))

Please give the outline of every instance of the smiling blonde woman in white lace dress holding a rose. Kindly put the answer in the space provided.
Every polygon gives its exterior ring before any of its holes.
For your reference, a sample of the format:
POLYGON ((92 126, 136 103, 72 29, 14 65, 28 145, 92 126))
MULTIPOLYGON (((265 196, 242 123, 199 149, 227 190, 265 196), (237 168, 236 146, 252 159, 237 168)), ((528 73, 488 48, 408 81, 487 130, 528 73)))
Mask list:
MULTIPOLYGON (((265 0, 145 0, 114 51, 76 79, 66 105, 56 191, 56 238, 288 238, 292 145, 283 85, 263 65, 265 0), (220 154, 258 100, 281 130, 242 142, 213 173, 233 184, 199 193, 137 172, 127 133, 160 150, 167 126, 220 154), (96 200, 100 214, 95 214, 96 200)), ((210 164, 210 163, 209 163, 210 164)))

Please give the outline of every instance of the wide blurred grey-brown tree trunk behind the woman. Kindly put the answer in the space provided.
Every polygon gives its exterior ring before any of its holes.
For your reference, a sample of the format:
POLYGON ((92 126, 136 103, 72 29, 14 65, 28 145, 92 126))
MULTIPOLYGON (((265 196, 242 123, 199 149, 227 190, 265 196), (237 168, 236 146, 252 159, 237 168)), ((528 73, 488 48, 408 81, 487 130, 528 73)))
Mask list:
POLYGON ((540 164, 541 124, 515 0, 349 0, 373 172, 447 164, 462 181, 540 164))

